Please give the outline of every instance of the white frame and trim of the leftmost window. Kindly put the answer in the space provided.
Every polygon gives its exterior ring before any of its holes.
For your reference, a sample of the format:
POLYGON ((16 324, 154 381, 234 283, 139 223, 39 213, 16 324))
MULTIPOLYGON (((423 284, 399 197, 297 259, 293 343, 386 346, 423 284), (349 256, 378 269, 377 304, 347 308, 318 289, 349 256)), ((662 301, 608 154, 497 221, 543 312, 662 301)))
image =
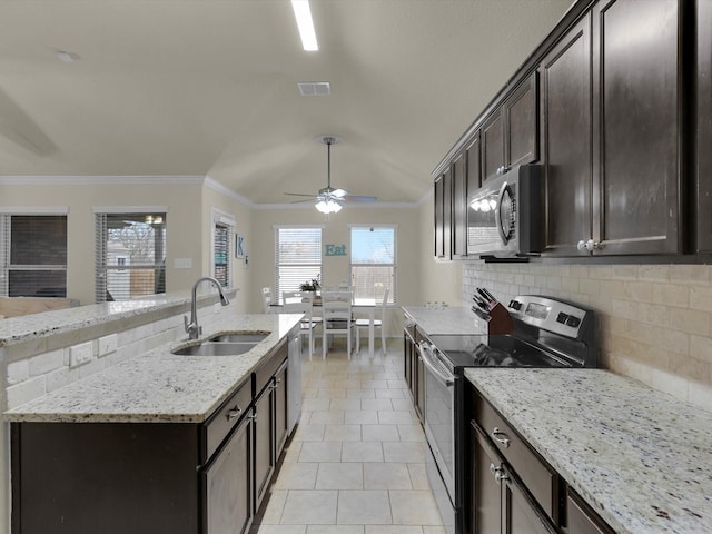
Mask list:
MULTIPOLYGON (((44 206, 44 207, 2 207, 0 208, 0 296, 9 297, 10 273, 41 273, 41 271, 62 271, 63 293, 67 298, 67 251, 68 251, 68 224, 69 207, 66 206, 44 206), (66 225, 65 240, 65 263, 63 264, 12 264, 12 217, 63 217, 66 225)), ((53 283, 55 280, 52 280, 53 283)), ((18 296, 37 296, 37 295, 18 295, 18 296)))

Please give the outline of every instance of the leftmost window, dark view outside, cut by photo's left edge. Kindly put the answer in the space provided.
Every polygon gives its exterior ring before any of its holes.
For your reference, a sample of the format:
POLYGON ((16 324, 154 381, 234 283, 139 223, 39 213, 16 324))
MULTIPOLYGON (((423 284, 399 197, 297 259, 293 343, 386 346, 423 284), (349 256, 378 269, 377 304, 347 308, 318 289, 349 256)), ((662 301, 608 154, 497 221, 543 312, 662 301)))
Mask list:
POLYGON ((0 214, 0 296, 67 297, 66 214, 0 214))

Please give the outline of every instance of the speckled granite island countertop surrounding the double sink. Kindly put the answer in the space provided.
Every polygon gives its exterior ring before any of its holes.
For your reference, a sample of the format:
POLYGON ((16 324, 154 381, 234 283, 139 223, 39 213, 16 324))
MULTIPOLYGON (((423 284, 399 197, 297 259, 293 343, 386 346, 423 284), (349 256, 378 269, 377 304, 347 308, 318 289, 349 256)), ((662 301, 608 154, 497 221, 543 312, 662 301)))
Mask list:
POLYGON ((207 338, 270 334, 239 356, 176 356, 162 345, 4 413, 12 422, 201 423, 249 377, 301 315, 226 315, 201 322, 207 338))

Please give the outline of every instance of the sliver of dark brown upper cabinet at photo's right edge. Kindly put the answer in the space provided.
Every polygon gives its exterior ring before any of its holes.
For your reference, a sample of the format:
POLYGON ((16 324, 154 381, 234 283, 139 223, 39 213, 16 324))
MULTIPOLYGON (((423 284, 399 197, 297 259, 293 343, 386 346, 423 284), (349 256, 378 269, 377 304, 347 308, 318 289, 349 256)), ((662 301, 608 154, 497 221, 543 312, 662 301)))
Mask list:
POLYGON ((696 2, 696 250, 712 251, 712 2, 696 2))

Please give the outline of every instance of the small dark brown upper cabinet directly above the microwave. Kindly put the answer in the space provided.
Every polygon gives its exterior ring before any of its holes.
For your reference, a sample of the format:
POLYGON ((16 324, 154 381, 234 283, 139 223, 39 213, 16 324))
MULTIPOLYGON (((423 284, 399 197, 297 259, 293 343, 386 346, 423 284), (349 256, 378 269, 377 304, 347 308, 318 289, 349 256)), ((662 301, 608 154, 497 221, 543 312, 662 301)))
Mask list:
POLYGON ((537 75, 526 78, 482 125, 482 176, 538 159, 537 75))

